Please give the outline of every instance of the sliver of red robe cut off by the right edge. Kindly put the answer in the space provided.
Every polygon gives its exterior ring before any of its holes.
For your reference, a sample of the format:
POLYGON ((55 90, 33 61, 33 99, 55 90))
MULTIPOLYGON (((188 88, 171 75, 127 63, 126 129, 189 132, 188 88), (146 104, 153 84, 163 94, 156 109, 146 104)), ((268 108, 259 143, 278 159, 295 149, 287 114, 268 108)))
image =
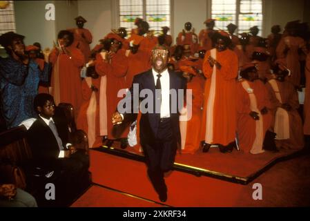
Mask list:
POLYGON ((307 56, 305 69, 306 92, 304 95, 304 134, 310 135, 310 53, 307 56))

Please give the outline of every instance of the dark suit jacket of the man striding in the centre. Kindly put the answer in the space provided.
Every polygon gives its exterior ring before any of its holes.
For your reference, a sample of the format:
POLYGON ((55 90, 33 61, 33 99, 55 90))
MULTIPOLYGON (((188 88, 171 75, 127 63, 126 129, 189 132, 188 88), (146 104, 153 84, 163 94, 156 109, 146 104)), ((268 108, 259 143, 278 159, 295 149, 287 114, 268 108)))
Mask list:
MULTIPOLYGON (((184 97, 180 97, 177 93, 177 90, 184 89, 184 95, 185 95, 185 89, 186 89, 186 81, 182 77, 182 75, 169 72, 170 76, 170 89, 176 90, 177 97, 171 97, 170 95, 170 117, 171 117, 171 126, 173 128, 173 135, 175 136, 175 139, 177 142, 180 143, 181 135, 180 135, 180 125, 179 125, 179 110, 177 106, 172 106, 172 104, 177 104, 178 106, 183 106, 184 97)), ((157 135, 158 126, 159 126, 159 120, 160 120, 160 111, 159 113, 155 112, 155 81, 153 77, 153 71, 148 70, 144 73, 141 73, 139 75, 135 75, 133 78, 133 84, 139 85, 139 94, 141 90, 148 89, 151 90, 153 93, 153 113, 142 113, 142 117, 140 120, 140 141, 142 145, 144 143, 150 143, 155 140, 155 137, 157 135)), ((123 103, 128 104, 130 101, 131 106, 126 106, 126 111, 122 113, 124 114, 124 123, 126 122, 133 122, 137 118, 137 113, 133 113, 134 108, 137 110, 137 106, 134 107, 133 103, 133 86, 130 88, 130 94, 127 93, 126 97, 123 100, 123 103)), ((146 97, 139 97, 139 101, 143 102, 146 97)))

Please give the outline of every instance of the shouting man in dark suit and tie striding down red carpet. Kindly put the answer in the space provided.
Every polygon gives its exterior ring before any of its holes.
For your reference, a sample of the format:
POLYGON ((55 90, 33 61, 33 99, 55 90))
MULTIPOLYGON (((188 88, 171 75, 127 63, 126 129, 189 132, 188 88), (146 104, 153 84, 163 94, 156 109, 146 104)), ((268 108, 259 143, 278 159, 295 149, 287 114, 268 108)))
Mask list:
POLYGON ((179 95, 178 92, 181 90, 184 93, 186 84, 180 75, 168 72, 166 46, 155 46, 151 61, 153 66, 151 70, 135 75, 130 93, 128 92, 119 102, 112 121, 115 125, 133 122, 137 117, 139 105, 139 102, 136 102, 137 99, 141 104, 145 104, 145 108, 140 106, 142 112, 139 123, 140 142, 148 166, 148 176, 159 195, 159 200, 166 202, 167 187, 164 173, 172 169, 177 146, 180 144, 178 110, 183 106, 184 94, 179 95), (137 86, 138 94, 135 91, 137 86), (175 93, 171 93, 171 90, 175 93), (147 95, 138 98, 137 95, 141 93, 147 95))

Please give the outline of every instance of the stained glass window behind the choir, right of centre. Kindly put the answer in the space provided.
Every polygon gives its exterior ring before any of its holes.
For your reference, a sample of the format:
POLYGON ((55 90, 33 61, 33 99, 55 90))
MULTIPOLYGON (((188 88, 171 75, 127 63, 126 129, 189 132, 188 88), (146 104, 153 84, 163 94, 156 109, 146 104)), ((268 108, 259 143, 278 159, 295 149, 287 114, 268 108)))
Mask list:
POLYGON ((217 29, 227 30, 226 26, 234 23, 238 33, 258 26, 258 35, 262 34, 262 0, 212 0, 211 14, 217 29))

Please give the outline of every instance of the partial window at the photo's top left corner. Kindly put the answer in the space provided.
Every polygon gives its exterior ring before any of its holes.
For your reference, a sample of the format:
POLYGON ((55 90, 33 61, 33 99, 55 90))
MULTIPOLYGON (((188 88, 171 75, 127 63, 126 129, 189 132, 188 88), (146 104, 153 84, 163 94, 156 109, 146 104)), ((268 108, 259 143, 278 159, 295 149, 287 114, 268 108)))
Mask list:
POLYGON ((13 1, 0 8, 0 35, 10 31, 16 31, 13 1))

